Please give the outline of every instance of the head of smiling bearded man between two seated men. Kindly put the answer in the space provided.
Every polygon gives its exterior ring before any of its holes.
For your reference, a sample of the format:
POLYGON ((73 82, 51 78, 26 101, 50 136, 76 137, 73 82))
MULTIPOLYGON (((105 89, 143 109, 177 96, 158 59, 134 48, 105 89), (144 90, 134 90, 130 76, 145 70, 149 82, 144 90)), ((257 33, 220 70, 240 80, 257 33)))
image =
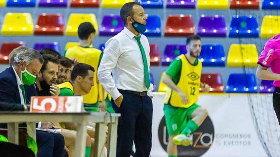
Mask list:
POLYGON ((74 62, 62 56, 58 64, 57 84, 70 81, 73 68, 74 62))

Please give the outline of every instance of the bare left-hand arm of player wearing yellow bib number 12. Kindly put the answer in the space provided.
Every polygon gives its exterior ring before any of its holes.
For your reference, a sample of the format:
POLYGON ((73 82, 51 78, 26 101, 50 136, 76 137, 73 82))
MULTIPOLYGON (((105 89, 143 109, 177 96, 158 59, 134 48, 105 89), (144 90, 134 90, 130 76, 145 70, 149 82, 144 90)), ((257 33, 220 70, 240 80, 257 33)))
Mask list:
POLYGON ((163 76, 162 82, 165 83, 171 90, 178 92, 179 96, 181 97, 181 101, 183 104, 188 104, 188 97, 185 93, 172 81, 171 76, 165 74, 163 76))

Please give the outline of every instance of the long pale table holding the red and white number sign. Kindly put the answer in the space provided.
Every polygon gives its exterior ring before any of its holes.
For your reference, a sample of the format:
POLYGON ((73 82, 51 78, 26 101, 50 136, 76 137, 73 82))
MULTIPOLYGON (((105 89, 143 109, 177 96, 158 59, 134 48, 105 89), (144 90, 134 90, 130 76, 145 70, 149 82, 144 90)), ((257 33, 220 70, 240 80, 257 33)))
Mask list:
POLYGON ((0 123, 8 123, 8 140, 18 144, 18 124, 27 123, 27 133, 36 141, 36 123, 42 122, 75 122, 77 123, 77 139, 75 157, 85 156, 85 144, 87 125, 95 125, 95 154, 104 154, 103 148, 106 143, 106 124, 109 124, 110 134, 107 141, 108 157, 116 156, 117 126, 120 114, 105 112, 82 112, 82 113, 53 113, 53 112, 29 112, 29 111, 0 111, 0 123))

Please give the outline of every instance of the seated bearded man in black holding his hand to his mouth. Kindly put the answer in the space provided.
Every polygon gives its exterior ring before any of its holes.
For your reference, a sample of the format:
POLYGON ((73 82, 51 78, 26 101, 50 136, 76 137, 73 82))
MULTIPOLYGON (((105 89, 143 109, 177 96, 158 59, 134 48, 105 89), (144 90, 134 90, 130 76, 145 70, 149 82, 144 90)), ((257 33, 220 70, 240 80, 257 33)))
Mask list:
POLYGON ((44 64, 36 77, 38 96, 58 96, 60 90, 56 84, 59 58, 51 54, 41 53, 44 64))

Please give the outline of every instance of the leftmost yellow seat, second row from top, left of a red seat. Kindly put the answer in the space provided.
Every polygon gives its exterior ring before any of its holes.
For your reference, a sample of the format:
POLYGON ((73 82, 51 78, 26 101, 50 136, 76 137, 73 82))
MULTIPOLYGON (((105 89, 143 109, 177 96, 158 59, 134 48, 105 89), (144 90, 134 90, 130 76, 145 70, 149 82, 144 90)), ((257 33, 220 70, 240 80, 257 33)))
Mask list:
POLYGON ((7 13, 1 35, 32 35, 33 28, 30 13, 7 13))

